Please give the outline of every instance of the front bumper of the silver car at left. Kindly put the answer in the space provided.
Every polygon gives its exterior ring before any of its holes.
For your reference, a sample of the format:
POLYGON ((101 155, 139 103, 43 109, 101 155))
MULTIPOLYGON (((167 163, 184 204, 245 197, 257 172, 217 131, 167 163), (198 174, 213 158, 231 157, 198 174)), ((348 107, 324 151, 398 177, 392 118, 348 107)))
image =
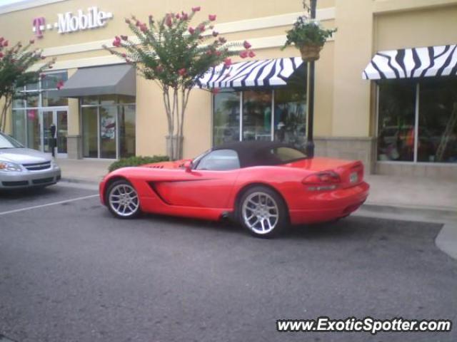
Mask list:
POLYGON ((40 187, 55 184, 60 179, 60 167, 52 167, 51 169, 40 171, 2 172, 0 173, 0 189, 40 187))

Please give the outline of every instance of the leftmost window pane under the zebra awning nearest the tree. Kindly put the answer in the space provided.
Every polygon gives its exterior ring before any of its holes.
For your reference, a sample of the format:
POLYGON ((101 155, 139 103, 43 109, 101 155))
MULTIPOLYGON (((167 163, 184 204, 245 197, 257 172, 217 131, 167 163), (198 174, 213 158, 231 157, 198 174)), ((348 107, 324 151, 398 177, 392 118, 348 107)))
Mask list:
POLYGON ((226 92, 214 96, 214 145, 240 140, 240 93, 226 92))

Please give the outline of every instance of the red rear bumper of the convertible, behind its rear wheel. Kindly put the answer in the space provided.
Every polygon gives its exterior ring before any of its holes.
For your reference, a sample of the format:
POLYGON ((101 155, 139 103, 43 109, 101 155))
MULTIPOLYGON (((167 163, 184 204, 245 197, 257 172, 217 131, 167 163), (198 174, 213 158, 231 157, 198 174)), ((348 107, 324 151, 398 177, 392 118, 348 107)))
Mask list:
POLYGON ((290 209, 291 224, 308 224, 333 221, 355 212, 366 197, 370 186, 362 182, 355 187, 321 192, 307 201, 306 207, 290 209))

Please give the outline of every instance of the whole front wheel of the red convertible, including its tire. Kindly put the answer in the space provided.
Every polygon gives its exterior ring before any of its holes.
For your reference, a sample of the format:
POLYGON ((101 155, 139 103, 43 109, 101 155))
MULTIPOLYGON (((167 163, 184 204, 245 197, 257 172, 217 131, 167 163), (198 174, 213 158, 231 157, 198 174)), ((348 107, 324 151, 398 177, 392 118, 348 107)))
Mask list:
POLYGON ((106 204, 111 214, 120 219, 132 219, 140 214, 138 193, 126 180, 117 180, 109 186, 106 204))

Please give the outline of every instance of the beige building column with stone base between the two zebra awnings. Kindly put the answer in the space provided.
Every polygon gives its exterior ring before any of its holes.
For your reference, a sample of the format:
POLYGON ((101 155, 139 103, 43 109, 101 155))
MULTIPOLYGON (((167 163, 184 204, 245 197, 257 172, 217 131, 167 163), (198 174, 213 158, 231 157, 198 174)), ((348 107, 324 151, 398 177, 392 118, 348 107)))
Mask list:
POLYGON ((371 84, 362 79, 373 53, 373 1, 347 2, 336 0, 332 139, 327 145, 338 145, 338 157, 361 159, 373 172, 371 84))

